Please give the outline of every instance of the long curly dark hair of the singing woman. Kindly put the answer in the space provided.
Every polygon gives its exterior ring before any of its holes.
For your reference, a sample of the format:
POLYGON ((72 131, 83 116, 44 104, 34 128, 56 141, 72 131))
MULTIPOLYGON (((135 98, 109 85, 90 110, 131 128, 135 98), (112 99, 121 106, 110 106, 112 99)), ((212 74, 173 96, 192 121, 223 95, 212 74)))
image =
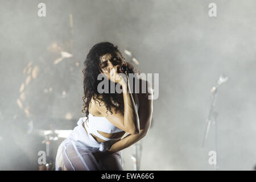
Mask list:
MULTIPOLYGON (((119 104, 118 109, 124 111, 124 108, 118 101, 117 95, 115 93, 104 92, 100 94, 97 91, 97 86, 101 82, 101 80, 97 80, 98 75, 101 73, 99 67, 100 57, 105 55, 106 53, 110 53, 112 56, 114 56, 117 52, 122 55, 121 52, 118 50, 118 47, 114 46, 114 44, 110 42, 101 42, 95 44, 86 56, 86 60, 84 61, 84 69, 82 70, 82 73, 84 74, 84 96, 82 97, 84 105, 82 113, 86 114, 87 119, 89 115, 89 104, 92 97, 96 101, 99 100, 99 104, 101 104, 101 102, 105 103, 105 106, 107 108, 106 113, 110 111, 110 113, 113 114, 113 111, 110 108, 110 105, 113 105, 111 100, 113 100, 115 104, 119 104), (101 97, 99 97, 100 95, 101 97)), ((127 75, 129 73, 134 74, 139 73, 139 71, 138 69, 134 68, 133 64, 127 63, 127 75)), ((110 82, 111 81, 109 80, 109 88, 111 84, 110 82)))

